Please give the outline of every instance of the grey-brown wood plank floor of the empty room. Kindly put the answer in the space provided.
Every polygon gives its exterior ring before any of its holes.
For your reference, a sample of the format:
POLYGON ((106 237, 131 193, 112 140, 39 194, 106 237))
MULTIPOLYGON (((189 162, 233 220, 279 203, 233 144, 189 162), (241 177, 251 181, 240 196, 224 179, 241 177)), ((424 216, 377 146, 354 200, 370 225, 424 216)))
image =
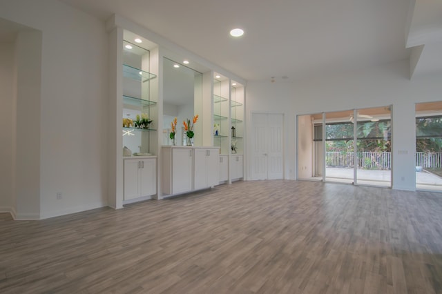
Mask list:
POLYGON ((0 236, 0 293, 442 293, 440 193, 238 182, 0 236))

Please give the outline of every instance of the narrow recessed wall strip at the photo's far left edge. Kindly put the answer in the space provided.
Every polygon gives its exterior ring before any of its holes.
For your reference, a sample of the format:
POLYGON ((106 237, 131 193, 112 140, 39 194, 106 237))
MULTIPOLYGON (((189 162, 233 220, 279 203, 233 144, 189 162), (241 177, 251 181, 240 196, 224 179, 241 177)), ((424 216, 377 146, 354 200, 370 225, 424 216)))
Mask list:
POLYGON ((15 213, 14 43, 0 43, 0 211, 15 213))

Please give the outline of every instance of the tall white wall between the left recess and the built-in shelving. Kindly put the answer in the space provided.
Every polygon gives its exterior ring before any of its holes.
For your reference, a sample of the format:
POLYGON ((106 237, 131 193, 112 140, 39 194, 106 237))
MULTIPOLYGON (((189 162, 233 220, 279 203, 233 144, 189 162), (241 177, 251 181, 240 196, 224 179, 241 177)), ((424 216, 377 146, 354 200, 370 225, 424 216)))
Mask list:
POLYGON ((32 109, 41 121, 30 122, 40 126, 41 152, 26 146, 40 161, 34 211, 45 218, 106 206, 104 23, 54 0, 1 1, 0 17, 42 32, 41 104, 32 109))

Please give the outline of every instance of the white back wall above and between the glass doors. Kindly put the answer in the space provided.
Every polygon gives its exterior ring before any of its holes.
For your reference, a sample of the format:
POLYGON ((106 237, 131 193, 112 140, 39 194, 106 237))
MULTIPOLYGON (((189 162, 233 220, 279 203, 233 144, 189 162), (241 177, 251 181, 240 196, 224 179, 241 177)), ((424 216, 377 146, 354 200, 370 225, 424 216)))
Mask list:
POLYGON ((302 81, 249 82, 247 112, 286 114, 287 174, 295 164, 296 115, 392 104, 393 188, 414 190, 414 106, 417 102, 442 100, 442 73, 414 77, 410 81, 409 72, 409 62, 404 60, 357 72, 318 75, 302 81))

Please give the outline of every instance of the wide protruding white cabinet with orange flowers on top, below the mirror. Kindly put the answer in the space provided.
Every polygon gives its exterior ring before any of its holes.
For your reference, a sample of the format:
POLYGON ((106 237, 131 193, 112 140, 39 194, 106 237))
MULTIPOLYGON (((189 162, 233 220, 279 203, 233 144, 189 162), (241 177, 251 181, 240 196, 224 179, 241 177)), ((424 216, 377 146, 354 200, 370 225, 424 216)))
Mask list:
POLYGON ((218 185, 216 147, 162 146, 162 193, 177 195, 218 185))

